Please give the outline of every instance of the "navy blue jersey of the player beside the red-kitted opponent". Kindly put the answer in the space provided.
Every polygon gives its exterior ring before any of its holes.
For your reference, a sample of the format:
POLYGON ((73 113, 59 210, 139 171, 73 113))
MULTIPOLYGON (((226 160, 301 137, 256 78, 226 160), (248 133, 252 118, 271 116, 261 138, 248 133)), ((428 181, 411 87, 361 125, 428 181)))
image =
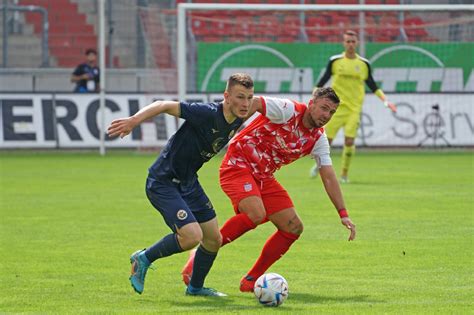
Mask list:
POLYGON ((243 120, 231 124, 224 118, 222 103, 180 103, 186 121, 168 141, 149 168, 154 177, 193 182, 201 166, 216 155, 237 132, 243 120))

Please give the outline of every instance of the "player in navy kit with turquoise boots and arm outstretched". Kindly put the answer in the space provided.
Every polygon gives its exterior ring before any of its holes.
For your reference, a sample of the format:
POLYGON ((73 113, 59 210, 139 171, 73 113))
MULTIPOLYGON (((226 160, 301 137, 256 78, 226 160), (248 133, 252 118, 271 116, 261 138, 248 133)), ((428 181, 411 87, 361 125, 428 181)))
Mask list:
POLYGON ((197 171, 216 155, 249 116, 253 81, 247 74, 233 74, 227 81, 222 103, 154 102, 135 115, 112 121, 111 137, 123 138, 143 121, 167 113, 185 119, 149 168, 146 194, 172 230, 155 244, 130 257, 130 282, 141 294, 151 263, 199 244, 187 295, 225 296, 205 288, 222 238, 216 213, 198 181, 197 171))

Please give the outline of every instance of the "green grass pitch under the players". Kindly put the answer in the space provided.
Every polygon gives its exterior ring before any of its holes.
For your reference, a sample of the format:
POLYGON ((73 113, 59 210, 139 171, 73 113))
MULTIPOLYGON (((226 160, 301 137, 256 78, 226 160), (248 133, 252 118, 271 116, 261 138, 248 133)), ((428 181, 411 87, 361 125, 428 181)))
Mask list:
MULTIPOLYGON (((333 153, 339 168, 339 152, 333 153)), ((218 183, 218 156, 200 180, 219 223, 233 211, 218 183)), ((43 314, 472 314, 472 151, 359 150, 343 186, 357 225, 348 242, 309 158, 277 177, 305 231, 269 271, 289 283, 279 308, 240 293, 274 227, 224 247, 206 285, 228 298, 184 295, 187 253, 150 270, 145 292, 130 287, 129 255, 169 233, 144 194, 155 155, 134 152, 0 151, 0 313, 43 314)))

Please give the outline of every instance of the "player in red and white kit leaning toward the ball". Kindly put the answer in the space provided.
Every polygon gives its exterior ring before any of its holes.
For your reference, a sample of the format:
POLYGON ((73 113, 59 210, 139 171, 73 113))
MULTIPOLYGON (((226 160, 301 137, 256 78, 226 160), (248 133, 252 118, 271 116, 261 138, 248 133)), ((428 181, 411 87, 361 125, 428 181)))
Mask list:
MULTIPOLYGON (((242 278, 240 291, 252 292, 256 279, 282 257, 303 232, 303 223, 290 196, 273 175, 283 165, 303 156, 311 154, 317 160, 326 192, 341 223, 350 230, 349 240, 354 240, 355 225, 344 205, 323 128, 338 105, 339 98, 332 88, 315 90, 308 105, 288 99, 254 97, 253 110, 262 115, 230 142, 220 168, 220 184, 232 201, 236 215, 220 230, 222 246, 267 221, 277 228, 242 278)), ((182 272, 185 282, 192 268, 191 256, 182 272)))

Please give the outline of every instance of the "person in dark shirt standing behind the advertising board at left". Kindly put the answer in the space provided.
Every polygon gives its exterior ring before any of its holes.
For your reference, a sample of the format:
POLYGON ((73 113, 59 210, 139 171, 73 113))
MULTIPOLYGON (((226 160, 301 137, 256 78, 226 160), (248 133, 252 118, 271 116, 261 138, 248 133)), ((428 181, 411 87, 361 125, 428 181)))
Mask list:
POLYGON ((71 75, 71 82, 76 83, 74 92, 94 93, 99 91, 100 71, 97 67, 97 51, 89 48, 86 50, 86 62, 76 67, 71 75))

